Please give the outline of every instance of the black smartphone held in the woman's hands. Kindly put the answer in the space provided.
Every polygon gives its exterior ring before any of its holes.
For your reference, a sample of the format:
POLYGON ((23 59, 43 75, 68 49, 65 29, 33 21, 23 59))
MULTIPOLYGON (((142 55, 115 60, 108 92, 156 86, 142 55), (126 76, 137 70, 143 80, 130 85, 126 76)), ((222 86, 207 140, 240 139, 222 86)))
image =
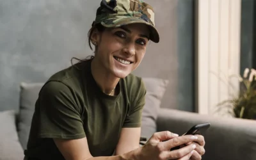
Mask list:
MULTIPOLYGON (((195 134, 204 134, 205 131, 207 131, 207 129, 209 129, 209 127, 211 126, 210 123, 204 123, 204 124, 197 124, 197 125, 194 125, 193 127, 191 127, 191 129, 189 129, 188 132, 185 132, 184 134, 182 134, 182 136, 184 135, 188 135, 188 134, 192 134, 192 135, 195 135, 195 134)), ((171 148, 171 150, 177 150, 179 149, 180 147, 177 146, 177 147, 173 147, 171 148)))

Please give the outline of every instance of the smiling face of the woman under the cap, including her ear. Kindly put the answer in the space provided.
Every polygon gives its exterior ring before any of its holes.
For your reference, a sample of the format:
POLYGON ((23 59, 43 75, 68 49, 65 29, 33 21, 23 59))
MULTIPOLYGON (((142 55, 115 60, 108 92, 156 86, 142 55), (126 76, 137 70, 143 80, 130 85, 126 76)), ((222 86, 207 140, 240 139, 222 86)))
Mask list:
POLYGON ((102 33, 95 31, 92 35, 98 44, 95 60, 109 74, 124 78, 140 65, 148 38, 149 29, 145 24, 107 28, 102 33))

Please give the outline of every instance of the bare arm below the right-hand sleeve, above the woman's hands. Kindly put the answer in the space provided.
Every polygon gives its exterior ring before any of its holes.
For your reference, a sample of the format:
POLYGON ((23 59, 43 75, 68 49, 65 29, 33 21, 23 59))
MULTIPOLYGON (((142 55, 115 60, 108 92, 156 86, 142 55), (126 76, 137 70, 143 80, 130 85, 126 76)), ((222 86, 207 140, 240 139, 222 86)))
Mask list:
POLYGON ((115 155, 125 154, 140 147, 141 128, 123 128, 116 146, 115 155))

